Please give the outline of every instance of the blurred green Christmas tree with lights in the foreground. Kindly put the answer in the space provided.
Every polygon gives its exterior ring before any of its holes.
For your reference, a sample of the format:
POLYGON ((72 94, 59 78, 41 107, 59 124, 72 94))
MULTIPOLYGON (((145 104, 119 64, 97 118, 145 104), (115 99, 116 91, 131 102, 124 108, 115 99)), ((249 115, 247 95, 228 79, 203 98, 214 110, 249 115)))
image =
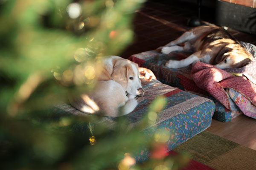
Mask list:
MULTIPOLYGON (((141 133, 147 118, 132 130, 120 118, 107 130, 94 123, 97 116, 53 109, 68 102, 68 91, 93 88, 98 60, 132 41, 131 21, 143 2, 0 0, 1 169, 158 170, 187 161, 161 156, 164 143, 141 133), (135 161, 141 147, 152 148, 152 159, 135 161)), ((151 111, 163 103, 156 99, 151 111)))

